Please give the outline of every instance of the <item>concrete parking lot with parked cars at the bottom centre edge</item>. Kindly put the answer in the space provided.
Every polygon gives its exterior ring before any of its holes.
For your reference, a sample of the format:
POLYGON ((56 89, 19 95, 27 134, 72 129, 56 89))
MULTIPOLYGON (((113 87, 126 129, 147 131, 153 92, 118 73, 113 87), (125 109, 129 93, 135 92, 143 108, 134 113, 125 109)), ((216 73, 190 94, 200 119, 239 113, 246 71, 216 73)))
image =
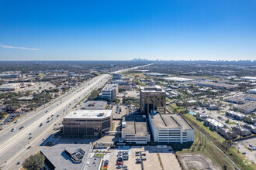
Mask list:
POLYGON ((160 160, 164 169, 181 169, 178 164, 178 160, 175 157, 175 154, 170 149, 171 147, 159 149, 156 146, 132 147, 130 149, 114 149, 109 150, 110 153, 106 155, 106 158, 109 158, 109 169, 120 169, 120 166, 116 165, 116 161, 118 155, 121 155, 123 151, 127 152, 128 160, 123 160, 122 165, 126 165, 128 169, 142 169, 142 167, 144 169, 162 169, 160 160), (158 158, 157 152, 160 159, 158 158), (140 163, 141 158, 143 158, 144 160, 140 163))

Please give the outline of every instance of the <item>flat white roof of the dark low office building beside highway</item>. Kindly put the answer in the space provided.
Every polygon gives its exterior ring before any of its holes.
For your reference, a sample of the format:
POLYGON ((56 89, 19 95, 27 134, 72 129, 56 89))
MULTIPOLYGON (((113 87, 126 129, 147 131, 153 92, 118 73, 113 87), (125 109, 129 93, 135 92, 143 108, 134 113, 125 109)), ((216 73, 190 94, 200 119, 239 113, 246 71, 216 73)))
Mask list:
POLYGON ((67 114, 64 119, 102 119, 110 117, 112 110, 75 110, 67 114))

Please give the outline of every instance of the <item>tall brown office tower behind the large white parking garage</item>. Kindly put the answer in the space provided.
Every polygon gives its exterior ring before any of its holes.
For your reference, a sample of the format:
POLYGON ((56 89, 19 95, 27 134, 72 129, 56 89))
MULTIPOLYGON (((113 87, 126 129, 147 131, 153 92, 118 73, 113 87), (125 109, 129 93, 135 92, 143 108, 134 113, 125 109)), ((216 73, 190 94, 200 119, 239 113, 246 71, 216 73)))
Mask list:
POLYGON ((140 112, 148 114, 151 110, 165 113, 166 92, 160 87, 140 87, 140 112))

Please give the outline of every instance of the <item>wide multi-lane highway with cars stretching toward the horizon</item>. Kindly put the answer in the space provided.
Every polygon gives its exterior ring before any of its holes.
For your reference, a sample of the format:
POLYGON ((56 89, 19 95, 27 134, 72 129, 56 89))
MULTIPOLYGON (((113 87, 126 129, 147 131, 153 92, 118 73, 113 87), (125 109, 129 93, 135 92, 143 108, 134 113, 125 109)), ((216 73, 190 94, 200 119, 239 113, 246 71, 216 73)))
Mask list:
MULTIPOLYGON (((146 65, 148 66, 148 65, 146 65)), ((133 67, 126 70, 137 69, 133 67)), ((126 70, 119 70, 121 73, 126 70)), ((82 83, 68 93, 51 101, 46 107, 26 114, 16 124, 9 124, 0 133, 0 168, 19 169, 20 160, 34 154, 45 138, 61 125, 63 117, 95 88, 102 87, 110 78, 103 74, 82 83), (14 131, 13 131, 14 129, 14 131)))

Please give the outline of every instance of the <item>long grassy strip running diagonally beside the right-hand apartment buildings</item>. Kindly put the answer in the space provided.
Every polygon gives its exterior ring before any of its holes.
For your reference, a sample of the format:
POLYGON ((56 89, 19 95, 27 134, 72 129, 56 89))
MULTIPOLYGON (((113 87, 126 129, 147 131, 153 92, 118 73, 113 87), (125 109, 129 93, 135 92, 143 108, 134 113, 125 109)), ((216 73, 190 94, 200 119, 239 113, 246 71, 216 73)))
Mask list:
POLYGON ((223 146, 224 138, 217 134, 215 131, 209 130, 208 127, 203 125, 203 122, 197 121, 192 114, 182 114, 186 121, 189 121, 190 124, 198 128, 203 134, 205 134, 208 138, 213 141, 215 145, 217 145, 227 156, 229 156, 240 169, 256 169, 256 165, 249 161, 243 154, 239 153, 236 148, 233 146, 231 148, 225 148, 223 146))

